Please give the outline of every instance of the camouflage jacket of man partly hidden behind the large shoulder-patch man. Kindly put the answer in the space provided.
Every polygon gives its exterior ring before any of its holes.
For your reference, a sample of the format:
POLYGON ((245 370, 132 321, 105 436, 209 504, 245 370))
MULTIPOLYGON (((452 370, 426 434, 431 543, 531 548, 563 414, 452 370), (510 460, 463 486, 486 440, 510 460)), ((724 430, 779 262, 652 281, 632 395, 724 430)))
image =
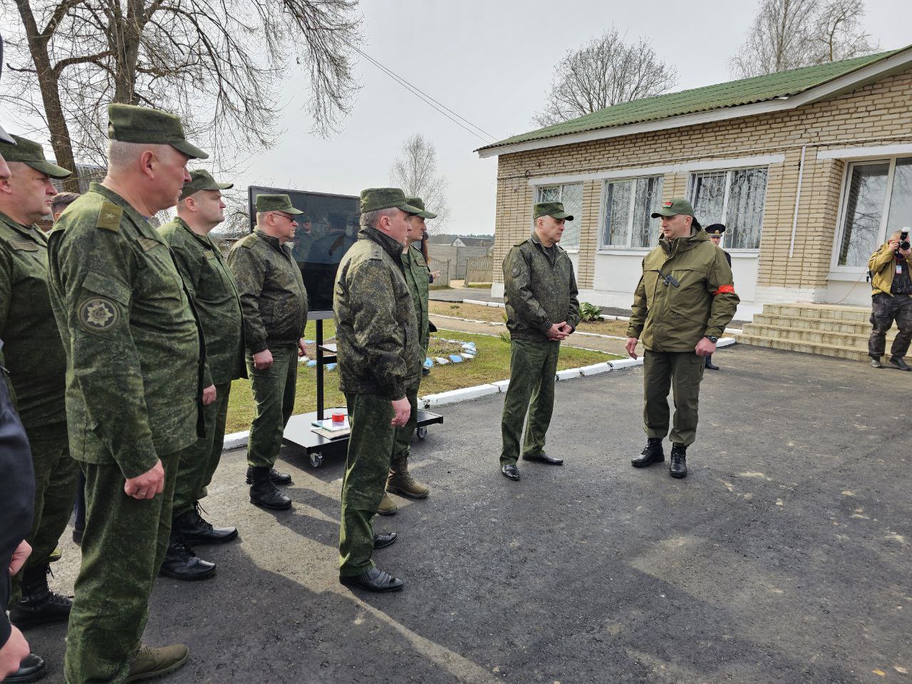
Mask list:
POLYGON ((246 378, 244 316, 234 276, 208 235, 193 233, 180 218, 159 228, 200 317, 206 346, 202 385, 246 378))

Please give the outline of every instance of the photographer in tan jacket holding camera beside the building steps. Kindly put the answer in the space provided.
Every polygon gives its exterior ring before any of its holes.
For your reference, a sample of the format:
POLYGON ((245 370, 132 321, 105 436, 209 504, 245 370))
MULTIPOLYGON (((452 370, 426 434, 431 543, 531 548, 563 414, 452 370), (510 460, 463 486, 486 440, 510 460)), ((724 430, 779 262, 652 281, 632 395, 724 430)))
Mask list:
POLYGON ((871 339, 867 353, 873 368, 884 368, 880 358, 886 350, 886 332, 896 321, 899 332, 890 347, 889 365, 912 370, 903 357, 912 341, 912 279, 909 277, 909 229, 890 235, 867 262, 871 274, 871 339))

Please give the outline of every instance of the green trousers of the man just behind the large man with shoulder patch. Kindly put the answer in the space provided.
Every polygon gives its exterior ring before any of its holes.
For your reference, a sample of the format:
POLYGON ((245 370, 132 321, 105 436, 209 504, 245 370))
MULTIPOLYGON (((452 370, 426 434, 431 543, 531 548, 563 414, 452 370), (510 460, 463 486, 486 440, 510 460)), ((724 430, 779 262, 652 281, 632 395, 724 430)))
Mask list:
POLYGON ((191 511, 194 504, 206 496, 206 488, 222 459, 225 438, 225 420, 228 416, 228 397, 231 383, 215 386, 215 401, 202 407, 206 436, 181 451, 181 462, 174 483, 174 506, 171 514, 176 518, 191 511))

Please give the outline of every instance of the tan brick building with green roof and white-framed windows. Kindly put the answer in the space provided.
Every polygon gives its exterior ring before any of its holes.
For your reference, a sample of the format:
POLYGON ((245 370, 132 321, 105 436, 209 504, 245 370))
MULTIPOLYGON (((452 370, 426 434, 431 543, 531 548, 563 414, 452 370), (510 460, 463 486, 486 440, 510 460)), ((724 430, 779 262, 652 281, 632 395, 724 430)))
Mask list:
POLYGON ((493 295, 534 202, 575 220, 581 299, 628 307, 684 196, 725 223, 740 318, 763 303, 870 304, 869 254, 912 225, 912 46, 601 109, 483 147, 498 157, 493 295))

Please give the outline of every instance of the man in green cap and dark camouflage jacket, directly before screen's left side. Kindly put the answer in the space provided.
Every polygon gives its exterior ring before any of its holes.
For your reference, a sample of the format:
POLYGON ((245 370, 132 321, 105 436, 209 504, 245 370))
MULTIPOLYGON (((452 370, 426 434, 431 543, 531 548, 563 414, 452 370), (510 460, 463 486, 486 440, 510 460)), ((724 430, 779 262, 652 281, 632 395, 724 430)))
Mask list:
POLYGON ((250 501, 274 511, 291 508, 276 484, 291 475, 273 466, 285 425, 295 408, 297 358, 304 356, 307 291, 292 258, 295 217, 302 212, 285 194, 256 197, 256 229, 228 254, 244 312, 247 373, 256 409, 247 441, 250 501))

